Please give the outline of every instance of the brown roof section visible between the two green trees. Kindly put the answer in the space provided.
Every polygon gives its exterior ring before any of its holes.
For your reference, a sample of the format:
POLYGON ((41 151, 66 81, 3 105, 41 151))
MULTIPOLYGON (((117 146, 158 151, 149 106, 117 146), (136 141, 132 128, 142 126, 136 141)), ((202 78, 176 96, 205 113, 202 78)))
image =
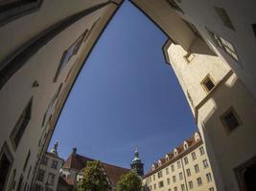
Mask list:
POLYGON ((122 175, 125 175, 129 172, 129 169, 115 166, 112 164, 103 163, 103 167, 105 169, 105 174, 108 178, 108 180, 111 181, 113 185, 116 185, 118 180, 122 175))

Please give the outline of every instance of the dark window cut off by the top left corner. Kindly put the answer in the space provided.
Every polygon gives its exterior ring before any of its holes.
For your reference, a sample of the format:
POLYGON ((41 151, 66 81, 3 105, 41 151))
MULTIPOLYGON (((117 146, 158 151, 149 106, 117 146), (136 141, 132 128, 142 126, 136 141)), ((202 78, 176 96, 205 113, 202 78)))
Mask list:
POLYGON ((36 11, 40 4, 40 0, 1 0, 0 26, 27 13, 36 11))

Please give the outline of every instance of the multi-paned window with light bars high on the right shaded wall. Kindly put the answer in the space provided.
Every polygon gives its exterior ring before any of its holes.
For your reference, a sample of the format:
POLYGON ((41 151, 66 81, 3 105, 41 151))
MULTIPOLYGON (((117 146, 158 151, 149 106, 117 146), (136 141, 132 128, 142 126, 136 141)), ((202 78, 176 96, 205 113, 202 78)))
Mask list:
POLYGON ((238 54, 234 46, 230 42, 228 42, 227 40, 225 40, 224 38, 222 38, 214 32, 210 32, 209 30, 207 31, 209 32, 211 38, 219 48, 221 48, 225 53, 229 54, 236 61, 239 61, 238 54))

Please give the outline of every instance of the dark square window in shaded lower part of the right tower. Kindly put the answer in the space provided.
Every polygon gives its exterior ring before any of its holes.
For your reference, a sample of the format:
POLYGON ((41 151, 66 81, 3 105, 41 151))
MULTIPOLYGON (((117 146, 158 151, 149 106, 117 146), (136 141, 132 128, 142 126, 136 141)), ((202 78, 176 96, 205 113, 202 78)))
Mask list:
POLYGON ((240 119, 233 108, 229 108, 222 116, 221 121, 227 133, 235 130, 240 124, 240 119))

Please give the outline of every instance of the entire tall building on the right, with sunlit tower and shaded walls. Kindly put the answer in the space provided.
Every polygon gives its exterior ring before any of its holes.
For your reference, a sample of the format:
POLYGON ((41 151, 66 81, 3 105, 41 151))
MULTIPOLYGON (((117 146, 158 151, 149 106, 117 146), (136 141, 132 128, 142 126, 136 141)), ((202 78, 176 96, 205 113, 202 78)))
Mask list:
POLYGON ((255 190, 256 150, 249 148, 256 144, 255 56, 251 52, 256 47, 252 11, 256 3, 132 2, 170 38, 164 55, 194 114, 218 190, 255 190))

